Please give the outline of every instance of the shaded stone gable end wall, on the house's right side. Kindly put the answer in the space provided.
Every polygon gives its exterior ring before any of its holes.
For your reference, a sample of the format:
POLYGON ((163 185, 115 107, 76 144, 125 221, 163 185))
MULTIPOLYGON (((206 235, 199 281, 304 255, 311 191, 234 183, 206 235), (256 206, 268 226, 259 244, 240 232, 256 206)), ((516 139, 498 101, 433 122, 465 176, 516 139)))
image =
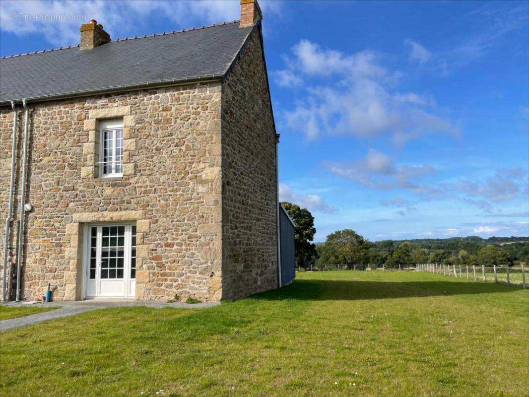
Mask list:
POLYGON ((223 297, 278 286, 276 138, 260 32, 222 93, 223 297))

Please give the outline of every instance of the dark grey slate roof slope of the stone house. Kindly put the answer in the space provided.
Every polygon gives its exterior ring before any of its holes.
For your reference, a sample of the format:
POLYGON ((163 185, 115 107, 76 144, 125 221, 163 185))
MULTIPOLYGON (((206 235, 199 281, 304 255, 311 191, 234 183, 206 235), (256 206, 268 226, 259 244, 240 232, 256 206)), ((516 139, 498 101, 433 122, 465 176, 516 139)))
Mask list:
POLYGON ((0 59, 0 103, 221 77, 252 28, 239 21, 0 59))

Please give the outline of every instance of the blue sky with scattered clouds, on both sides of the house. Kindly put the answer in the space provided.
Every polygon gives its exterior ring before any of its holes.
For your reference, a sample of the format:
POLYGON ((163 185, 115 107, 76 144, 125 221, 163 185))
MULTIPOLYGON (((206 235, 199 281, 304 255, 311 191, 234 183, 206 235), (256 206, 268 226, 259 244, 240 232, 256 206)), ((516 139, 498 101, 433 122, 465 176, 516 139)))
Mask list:
MULTIPOLYGON (((529 235, 529 2, 260 4, 280 194, 316 241, 529 235)), ((83 16, 112 38, 239 19, 238 1, 0 7, 1 56, 77 44, 83 16)))

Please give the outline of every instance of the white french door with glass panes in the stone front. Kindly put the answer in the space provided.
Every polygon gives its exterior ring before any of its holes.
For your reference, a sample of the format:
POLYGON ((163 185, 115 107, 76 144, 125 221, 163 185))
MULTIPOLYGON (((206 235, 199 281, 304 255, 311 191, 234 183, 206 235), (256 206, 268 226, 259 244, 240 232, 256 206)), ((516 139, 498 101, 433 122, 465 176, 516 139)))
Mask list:
POLYGON ((86 296, 135 296, 136 225, 88 225, 86 296))

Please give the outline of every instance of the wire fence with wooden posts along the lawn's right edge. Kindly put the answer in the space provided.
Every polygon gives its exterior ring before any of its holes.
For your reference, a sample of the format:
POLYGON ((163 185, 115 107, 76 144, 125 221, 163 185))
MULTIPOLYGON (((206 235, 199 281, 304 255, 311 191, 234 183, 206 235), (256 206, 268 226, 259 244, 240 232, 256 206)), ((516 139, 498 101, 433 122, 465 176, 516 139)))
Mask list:
POLYGON ((467 265, 440 265, 436 263, 426 263, 416 265, 417 272, 428 272, 443 274, 445 276, 466 278, 470 281, 493 282, 497 284, 507 284, 522 286, 526 288, 525 267, 509 266, 467 266, 467 265))

